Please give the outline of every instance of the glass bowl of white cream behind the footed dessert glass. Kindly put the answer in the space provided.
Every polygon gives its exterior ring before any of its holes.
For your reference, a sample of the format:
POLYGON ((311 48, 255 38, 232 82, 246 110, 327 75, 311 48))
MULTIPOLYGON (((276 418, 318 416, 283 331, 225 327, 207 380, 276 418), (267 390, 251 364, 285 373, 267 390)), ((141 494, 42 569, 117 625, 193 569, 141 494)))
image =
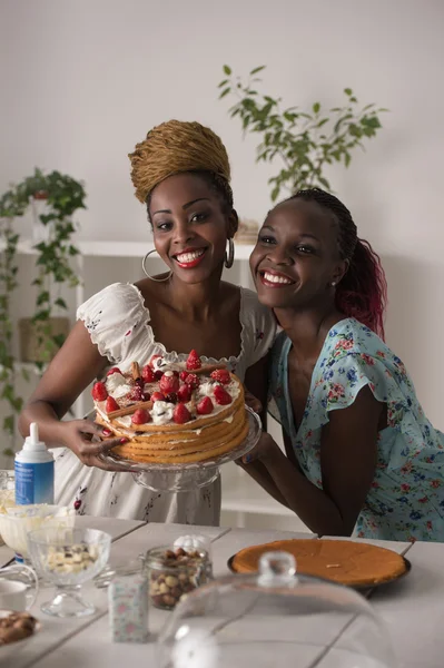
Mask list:
POLYGON ((57 527, 75 525, 76 511, 66 505, 32 503, 29 505, 6 507, 0 512, 0 536, 16 552, 16 561, 30 566, 27 537, 30 531, 52 523, 57 527))

